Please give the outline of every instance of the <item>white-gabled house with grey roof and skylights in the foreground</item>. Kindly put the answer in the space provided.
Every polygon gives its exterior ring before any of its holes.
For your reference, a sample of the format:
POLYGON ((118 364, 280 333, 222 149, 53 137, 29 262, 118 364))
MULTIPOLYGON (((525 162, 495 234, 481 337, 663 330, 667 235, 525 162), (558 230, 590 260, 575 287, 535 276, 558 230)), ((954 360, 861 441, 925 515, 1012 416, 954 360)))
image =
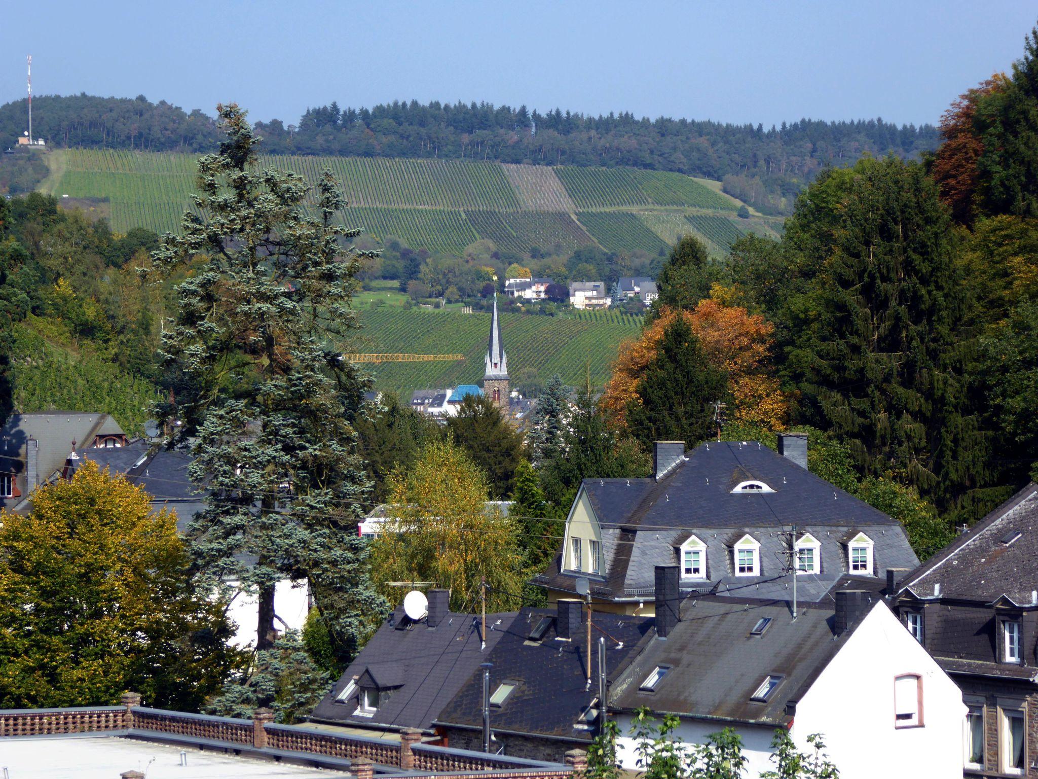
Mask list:
POLYGON ((679 620, 678 568, 657 570, 657 635, 610 692, 623 768, 638 769, 627 733, 649 706, 680 716, 686 745, 734 728, 747 777, 774 770, 776 728, 800 751, 820 733, 841 779, 962 776, 961 692, 875 592, 842 587, 835 613, 796 619, 788 602, 687 598, 679 620))

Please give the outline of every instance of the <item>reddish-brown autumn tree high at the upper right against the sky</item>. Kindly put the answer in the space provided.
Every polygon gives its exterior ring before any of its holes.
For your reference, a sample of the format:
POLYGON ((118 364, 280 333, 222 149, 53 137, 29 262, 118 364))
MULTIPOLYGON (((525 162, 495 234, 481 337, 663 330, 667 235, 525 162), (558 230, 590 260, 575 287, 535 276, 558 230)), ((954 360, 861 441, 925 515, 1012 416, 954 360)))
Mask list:
POLYGON ((940 136, 944 143, 933 158, 930 170, 940 190, 940 199, 952 210, 960 224, 968 224, 974 217, 974 196, 979 184, 977 161, 984 152, 984 143, 974 126, 977 103, 986 95, 1002 88, 1004 74, 995 74, 979 86, 959 96, 940 118, 940 136))

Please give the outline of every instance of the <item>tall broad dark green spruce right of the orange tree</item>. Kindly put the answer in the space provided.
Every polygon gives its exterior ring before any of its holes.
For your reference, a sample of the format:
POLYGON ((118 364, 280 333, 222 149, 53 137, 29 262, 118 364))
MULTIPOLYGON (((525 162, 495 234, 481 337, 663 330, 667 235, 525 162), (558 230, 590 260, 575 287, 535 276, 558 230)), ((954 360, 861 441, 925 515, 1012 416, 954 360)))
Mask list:
POLYGON ((846 438, 866 474, 895 473, 948 508, 976 486, 984 447, 964 410, 967 300, 947 210, 920 165, 893 158, 817 186, 838 216, 792 220, 829 257, 799 303, 811 316, 787 370, 809 421, 846 438))

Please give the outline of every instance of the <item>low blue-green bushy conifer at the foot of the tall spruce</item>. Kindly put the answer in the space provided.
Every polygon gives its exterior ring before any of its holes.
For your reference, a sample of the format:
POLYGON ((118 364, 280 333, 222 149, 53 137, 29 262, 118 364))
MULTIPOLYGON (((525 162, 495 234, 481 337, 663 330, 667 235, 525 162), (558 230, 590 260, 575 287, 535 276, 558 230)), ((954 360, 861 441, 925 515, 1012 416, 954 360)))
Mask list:
POLYGON ((292 725, 313 710, 331 682, 307 653, 299 632, 285 630, 273 646, 256 652, 250 673, 228 683, 206 713, 251 719, 265 705, 274 710, 275 722, 292 725))

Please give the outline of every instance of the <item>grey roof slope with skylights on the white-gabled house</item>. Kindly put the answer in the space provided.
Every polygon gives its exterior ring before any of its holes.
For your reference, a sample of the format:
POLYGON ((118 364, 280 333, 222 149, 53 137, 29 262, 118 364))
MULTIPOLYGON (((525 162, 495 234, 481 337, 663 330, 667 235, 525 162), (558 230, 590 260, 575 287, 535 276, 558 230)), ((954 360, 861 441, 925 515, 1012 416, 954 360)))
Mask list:
POLYGON ((649 640, 613 684, 610 706, 786 725, 787 702, 807 692, 852 633, 836 638, 834 622, 832 609, 802 609, 794 622, 783 602, 686 600, 671 635, 649 640), (762 617, 771 622, 752 636, 762 617), (671 670, 654 692, 640 691, 656 666, 671 670), (752 701, 768 675, 782 677, 778 687, 766 701, 752 701))

